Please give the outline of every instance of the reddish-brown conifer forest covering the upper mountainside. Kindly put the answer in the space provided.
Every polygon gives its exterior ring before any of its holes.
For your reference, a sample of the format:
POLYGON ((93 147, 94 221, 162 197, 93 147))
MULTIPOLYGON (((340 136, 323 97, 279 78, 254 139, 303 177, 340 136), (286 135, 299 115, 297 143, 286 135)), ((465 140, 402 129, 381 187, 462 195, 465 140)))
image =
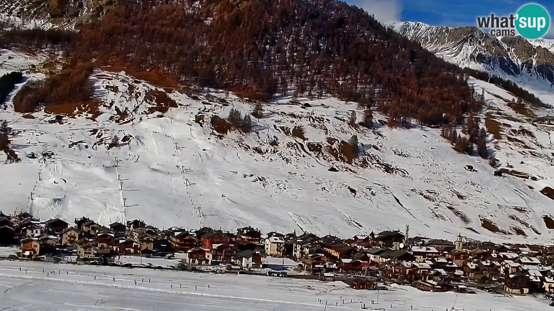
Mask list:
MULTIPOLYGON (((259 101, 294 87, 295 97, 334 96, 377 107, 399 125, 461 124, 484 104, 467 83, 479 72, 446 63, 362 9, 333 0, 211 0, 199 6, 192 0, 120 0, 77 34, 12 30, 0 44, 29 40, 63 46, 69 66, 94 60, 97 67, 148 72, 165 84, 228 89, 259 101)), ((63 84, 41 87, 86 89, 63 84)), ((515 84, 506 86, 537 103, 515 84)), ((27 100, 25 110, 42 103, 27 100)))

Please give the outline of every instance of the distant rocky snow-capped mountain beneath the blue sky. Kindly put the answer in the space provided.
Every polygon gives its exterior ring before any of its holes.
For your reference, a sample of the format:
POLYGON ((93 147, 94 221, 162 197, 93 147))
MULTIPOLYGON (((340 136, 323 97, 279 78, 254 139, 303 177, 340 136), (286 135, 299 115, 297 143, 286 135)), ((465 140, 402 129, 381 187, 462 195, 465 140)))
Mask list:
POLYGON ((554 40, 493 37, 476 27, 435 27, 421 22, 392 27, 444 60, 512 80, 548 105, 554 104, 554 40))

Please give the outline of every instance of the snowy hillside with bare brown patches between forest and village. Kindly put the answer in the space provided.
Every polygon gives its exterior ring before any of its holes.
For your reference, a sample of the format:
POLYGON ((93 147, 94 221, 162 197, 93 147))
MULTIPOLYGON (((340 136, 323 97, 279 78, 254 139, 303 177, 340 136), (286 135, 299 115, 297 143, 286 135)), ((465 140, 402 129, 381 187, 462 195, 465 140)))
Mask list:
MULTIPOLYGON (((40 61, 2 53, 12 59, 1 73, 40 61)), ((378 113, 373 130, 352 128, 351 111, 361 118, 355 103, 299 105, 285 96, 264 106, 252 132, 222 134, 214 117, 253 109, 233 94, 162 89, 122 72, 97 70, 91 79, 100 104, 65 111, 61 120, 13 112, 10 101, 0 110, 20 160, 0 164, 1 210, 70 222, 86 215, 102 224, 140 218, 160 227, 339 236, 407 224, 413 235, 449 239, 458 232, 512 242, 554 236, 543 220, 554 216, 554 201, 540 193, 554 188, 554 125, 511 110, 510 94, 486 82, 471 81, 490 105, 481 116, 490 153, 536 180, 495 177, 488 160, 456 153, 437 128, 391 129, 378 113), (347 164, 339 145, 355 133, 362 152, 347 164)))

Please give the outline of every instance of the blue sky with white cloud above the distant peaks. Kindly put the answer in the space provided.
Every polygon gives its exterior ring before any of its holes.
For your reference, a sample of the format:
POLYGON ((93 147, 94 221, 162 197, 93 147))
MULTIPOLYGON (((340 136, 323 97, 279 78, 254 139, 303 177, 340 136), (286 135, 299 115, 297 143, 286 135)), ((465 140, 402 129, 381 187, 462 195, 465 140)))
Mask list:
MULTIPOLYGON (((346 0, 366 9, 384 23, 398 21, 424 22, 440 26, 476 26, 476 17, 491 13, 499 16, 516 13, 527 3, 537 3, 545 7, 554 18, 554 0, 346 0)), ((554 22, 554 21, 552 21, 554 22)), ((550 27, 546 38, 554 38, 554 26, 550 27)))

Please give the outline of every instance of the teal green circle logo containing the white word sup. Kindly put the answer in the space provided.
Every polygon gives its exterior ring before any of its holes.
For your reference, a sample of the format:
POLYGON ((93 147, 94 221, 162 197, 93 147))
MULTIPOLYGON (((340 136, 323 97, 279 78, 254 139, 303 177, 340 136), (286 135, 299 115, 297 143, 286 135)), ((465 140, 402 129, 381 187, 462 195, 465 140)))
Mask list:
POLYGON ((538 4, 525 4, 516 15, 516 29, 527 39, 542 37, 550 27, 550 15, 538 4))

